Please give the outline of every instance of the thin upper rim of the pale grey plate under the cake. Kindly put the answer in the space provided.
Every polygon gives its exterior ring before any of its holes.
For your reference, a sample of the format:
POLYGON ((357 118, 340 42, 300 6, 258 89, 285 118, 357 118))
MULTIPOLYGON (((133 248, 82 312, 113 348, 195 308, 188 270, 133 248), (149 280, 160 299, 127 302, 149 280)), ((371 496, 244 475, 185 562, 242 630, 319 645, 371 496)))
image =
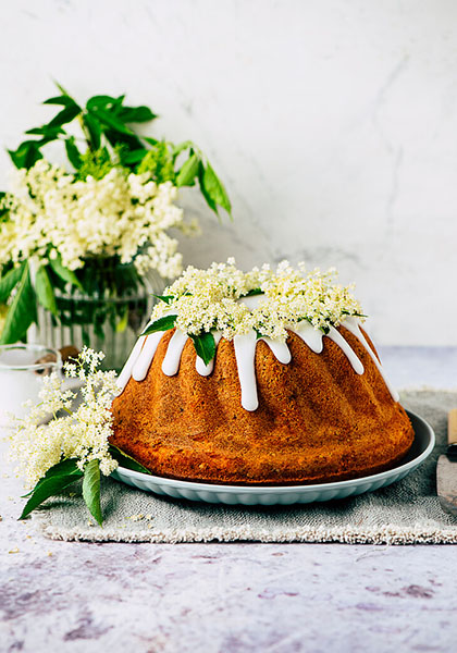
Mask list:
MULTIPOLYGON (((155 475, 149 475, 149 473, 144 473, 141 471, 135 471, 134 469, 127 469, 126 467, 122 467, 122 465, 119 465, 119 467, 116 467, 116 469, 111 473, 112 477, 115 478, 116 471, 118 469, 121 470, 121 473, 131 477, 133 479, 137 479, 139 481, 143 482, 149 482, 149 483, 153 483, 156 485, 160 484, 160 485, 165 485, 165 486, 173 486, 175 489, 180 489, 180 490, 192 490, 194 492, 211 492, 211 493, 228 493, 228 494, 239 494, 239 493, 247 493, 247 494, 287 494, 291 492, 299 492, 299 493, 304 493, 304 492, 324 492, 324 491, 331 491, 331 490, 342 490, 344 488, 353 488, 354 485, 359 485, 360 483, 373 483, 380 480, 385 480, 388 479, 391 476, 395 476, 398 473, 403 473, 405 472, 404 476, 406 476, 406 473, 411 469, 411 468, 416 468, 418 467, 421 463, 423 463, 423 460, 425 460, 430 454, 432 453, 434 446, 435 446, 435 442, 436 442, 436 438, 435 438, 435 433, 432 429, 432 427, 429 424, 429 422, 423 419, 423 417, 420 417, 419 415, 417 415, 416 412, 413 412, 412 410, 406 410, 406 414, 408 415, 411 423, 412 423, 412 429, 415 431, 415 439, 416 439, 416 428, 415 428, 415 423, 413 421, 418 421, 421 423, 422 428, 424 428, 424 431, 427 433, 428 436, 428 443, 425 448, 415 458, 412 458, 411 460, 408 460, 407 463, 404 463, 403 465, 398 465, 396 467, 393 467, 392 469, 387 469, 385 471, 380 471, 378 473, 373 473, 370 476, 366 476, 366 477, 358 477, 355 479, 346 479, 343 481, 331 481, 330 483, 314 483, 314 484, 306 484, 306 485, 224 485, 221 483, 205 483, 205 482, 200 482, 200 481, 186 481, 186 480, 182 480, 182 479, 171 479, 168 477, 159 477, 159 476, 155 476, 155 475), (411 417, 413 418, 411 420, 411 417)), ((121 478, 121 481, 124 482, 124 480, 121 478)))

